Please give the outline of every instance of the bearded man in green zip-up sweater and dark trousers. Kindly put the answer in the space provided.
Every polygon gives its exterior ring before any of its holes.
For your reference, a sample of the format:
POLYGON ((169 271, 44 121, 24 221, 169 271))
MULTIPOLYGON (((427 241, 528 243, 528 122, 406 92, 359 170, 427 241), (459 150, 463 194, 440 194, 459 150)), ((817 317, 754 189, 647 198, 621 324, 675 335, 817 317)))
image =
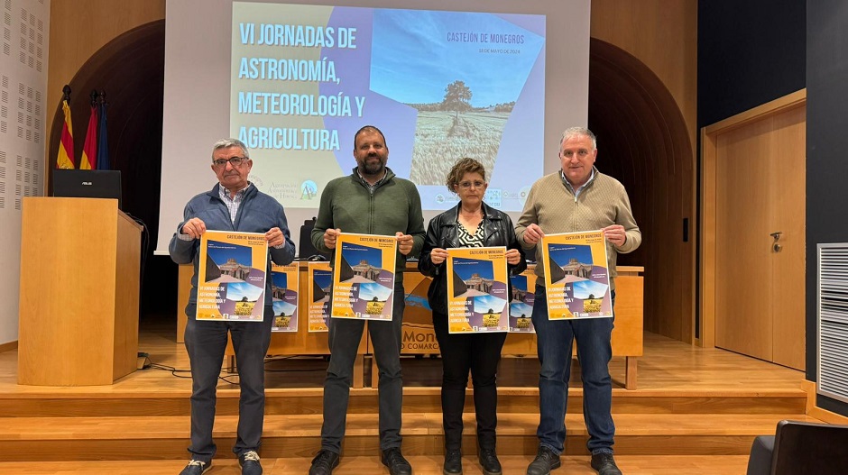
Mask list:
MULTIPOLYGON (((380 449, 383 464, 392 475, 410 475, 412 467, 401 454, 401 324, 403 319, 403 269, 407 258, 417 256, 424 244, 421 197, 409 180, 386 167, 389 147, 383 132, 366 125, 354 135, 356 168, 336 178, 321 194, 318 219, 312 230, 315 249, 332 253, 338 233, 383 234, 398 240, 394 302, 391 322, 368 322, 374 357, 380 370, 380 449)), ((347 400, 356 351, 364 320, 330 318, 330 363, 324 380, 324 425, 321 451, 309 475, 329 475, 338 465, 345 436, 347 400)))

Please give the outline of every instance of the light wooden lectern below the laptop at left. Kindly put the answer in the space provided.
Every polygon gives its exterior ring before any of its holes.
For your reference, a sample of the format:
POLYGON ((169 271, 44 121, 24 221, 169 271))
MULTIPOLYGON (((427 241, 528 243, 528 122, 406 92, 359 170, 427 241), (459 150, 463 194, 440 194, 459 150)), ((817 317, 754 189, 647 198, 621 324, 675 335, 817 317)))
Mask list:
POLYGON ((24 197, 18 384, 112 384, 136 369, 142 227, 117 200, 24 197))

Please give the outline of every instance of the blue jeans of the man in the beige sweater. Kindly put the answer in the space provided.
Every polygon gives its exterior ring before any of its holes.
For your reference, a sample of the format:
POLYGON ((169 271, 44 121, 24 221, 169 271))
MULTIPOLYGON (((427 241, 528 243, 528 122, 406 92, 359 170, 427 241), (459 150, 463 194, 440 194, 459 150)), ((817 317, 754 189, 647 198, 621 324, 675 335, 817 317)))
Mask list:
MULTIPOLYGON (((615 293, 613 292, 613 303, 615 293)), ((589 432, 586 447, 592 454, 613 453, 615 425, 611 414, 613 381, 609 362, 613 357, 610 341, 612 318, 548 320, 545 288, 536 286, 533 305, 539 352, 539 445, 562 453, 566 441, 568 379, 571 377, 572 344, 577 343, 577 360, 583 376, 583 417, 589 432)))

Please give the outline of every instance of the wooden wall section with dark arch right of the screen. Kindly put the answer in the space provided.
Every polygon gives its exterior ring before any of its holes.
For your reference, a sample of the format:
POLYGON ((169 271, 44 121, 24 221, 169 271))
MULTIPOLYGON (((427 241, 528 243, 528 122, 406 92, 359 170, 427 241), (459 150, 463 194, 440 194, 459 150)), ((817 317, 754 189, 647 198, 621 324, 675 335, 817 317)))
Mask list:
POLYGON ((645 267, 645 330, 694 342, 697 2, 593 0, 591 22, 598 167, 628 189, 643 237, 619 262, 645 267))

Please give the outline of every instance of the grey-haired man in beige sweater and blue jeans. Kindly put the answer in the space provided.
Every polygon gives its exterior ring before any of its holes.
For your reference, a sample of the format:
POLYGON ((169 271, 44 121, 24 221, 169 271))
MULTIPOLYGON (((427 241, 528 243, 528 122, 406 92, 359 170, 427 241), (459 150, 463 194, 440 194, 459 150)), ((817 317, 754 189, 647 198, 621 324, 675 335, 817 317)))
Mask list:
MULTIPOLYGON (((539 178, 530 188, 527 203, 515 226, 526 249, 535 246, 545 233, 604 232, 610 271, 610 289, 615 303, 615 259, 618 252, 639 247, 641 233, 633 219, 630 199, 622 184, 595 169, 595 134, 572 127, 559 142, 562 169, 539 178)), ((548 320, 545 295, 545 262, 536 251, 536 300, 533 325, 539 352, 539 451, 527 475, 547 475, 560 465, 566 439, 568 379, 571 349, 577 342, 577 358, 583 374, 584 417, 589 432, 586 446, 592 452, 592 468, 600 475, 621 475, 613 459, 615 425, 611 407, 613 384, 609 361, 613 357, 610 337, 612 318, 548 320)))

